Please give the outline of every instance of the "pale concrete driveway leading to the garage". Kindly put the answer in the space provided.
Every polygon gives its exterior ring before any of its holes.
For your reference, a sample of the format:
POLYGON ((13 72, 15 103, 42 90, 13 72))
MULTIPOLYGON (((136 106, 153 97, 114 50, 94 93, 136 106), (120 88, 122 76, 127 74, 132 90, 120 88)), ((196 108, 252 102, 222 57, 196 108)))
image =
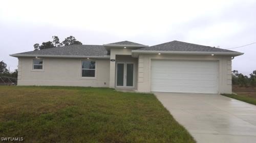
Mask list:
POLYGON ((222 95, 154 93, 197 142, 256 142, 256 106, 222 95))

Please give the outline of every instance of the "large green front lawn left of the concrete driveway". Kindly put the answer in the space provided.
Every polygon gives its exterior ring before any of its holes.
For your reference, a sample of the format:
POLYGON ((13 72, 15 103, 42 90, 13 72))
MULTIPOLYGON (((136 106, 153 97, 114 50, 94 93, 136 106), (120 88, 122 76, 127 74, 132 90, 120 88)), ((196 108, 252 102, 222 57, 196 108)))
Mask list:
POLYGON ((0 86, 0 137, 25 142, 195 142, 153 94, 0 86))

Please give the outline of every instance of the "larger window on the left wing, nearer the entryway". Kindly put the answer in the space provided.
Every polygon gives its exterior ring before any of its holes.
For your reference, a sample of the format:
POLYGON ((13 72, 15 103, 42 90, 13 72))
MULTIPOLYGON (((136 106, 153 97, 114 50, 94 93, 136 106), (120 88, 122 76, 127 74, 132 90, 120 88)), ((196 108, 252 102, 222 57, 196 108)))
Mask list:
POLYGON ((82 61, 82 77, 95 77, 95 61, 82 61))

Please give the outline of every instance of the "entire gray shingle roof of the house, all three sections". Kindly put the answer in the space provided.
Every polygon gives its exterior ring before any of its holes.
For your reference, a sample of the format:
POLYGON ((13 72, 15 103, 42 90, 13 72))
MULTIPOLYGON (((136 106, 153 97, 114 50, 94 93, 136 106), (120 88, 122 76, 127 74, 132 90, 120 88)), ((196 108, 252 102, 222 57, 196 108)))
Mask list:
MULTIPOLYGON (((112 44, 138 44, 133 43, 129 41, 122 41, 112 44)), ((140 45, 141 46, 141 45, 140 45)), ((139 52, 140 50, 146 50, 146 51, 194 51, 194 52, 235 52, 240 53, 236 51, 221 49, 221 48, 215 48, 215 47, 209 47, 209 46, 202 46, 197 44, 191 44, 191 43, 185 43, 180 41, 172 41, 167 42, 155 46, 150 47, 143 47, 140 49, 137 49, 139 52)), ((241 53, 242 54, 242 53, 241 53)), ((36 50, 36 51, 28 51, 28 52, 22 52, 22 53, 16 53, 11 54, 11 56, 19 57, 19 56, 98 56, 99 58, 107 58, 109 55, 108 51, 103 45, 69 45, 69 46, 63 46, 63 47, 54 47, 49 49, 42 49, 42 50, 36 50)))

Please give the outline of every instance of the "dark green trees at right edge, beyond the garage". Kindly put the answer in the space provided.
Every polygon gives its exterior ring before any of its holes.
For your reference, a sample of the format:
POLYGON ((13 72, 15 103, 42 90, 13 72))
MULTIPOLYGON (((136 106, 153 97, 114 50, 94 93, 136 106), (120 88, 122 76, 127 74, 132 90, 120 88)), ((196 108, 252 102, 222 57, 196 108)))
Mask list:
POLYGON ((256 70, 254 70, 249 77, 239 73, 237 70, 233 70, 232 85, 239 85, 241 87, 256 87, 256 70))

